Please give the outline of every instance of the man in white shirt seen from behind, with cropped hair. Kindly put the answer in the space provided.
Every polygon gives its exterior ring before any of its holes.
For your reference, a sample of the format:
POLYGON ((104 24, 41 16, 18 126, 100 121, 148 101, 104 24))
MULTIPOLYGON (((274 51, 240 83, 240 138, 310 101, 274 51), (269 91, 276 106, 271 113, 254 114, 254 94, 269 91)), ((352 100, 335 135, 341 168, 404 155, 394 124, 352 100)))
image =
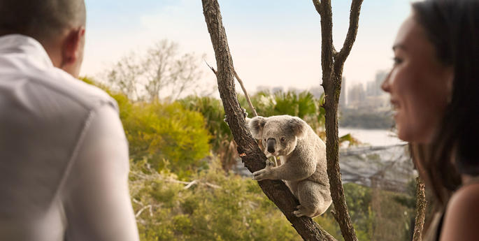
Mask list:
POLYGON ((117 103, 77 80, 83 0, 0 0, 0 240, 138 240, 117 103))

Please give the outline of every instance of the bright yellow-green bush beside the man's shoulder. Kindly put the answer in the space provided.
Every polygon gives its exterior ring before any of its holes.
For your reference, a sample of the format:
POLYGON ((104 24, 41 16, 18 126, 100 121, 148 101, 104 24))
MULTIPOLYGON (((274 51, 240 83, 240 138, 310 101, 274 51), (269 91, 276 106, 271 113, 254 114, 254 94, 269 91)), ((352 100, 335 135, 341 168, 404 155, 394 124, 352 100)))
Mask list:
POLYGON ((181 178, 207 168, 210 135, 201 113, 186 110, 180 103, 131 103, 126 95, 99 87, 118 103, 131 159, 147 159, 155 169, 168 168, 181 178))

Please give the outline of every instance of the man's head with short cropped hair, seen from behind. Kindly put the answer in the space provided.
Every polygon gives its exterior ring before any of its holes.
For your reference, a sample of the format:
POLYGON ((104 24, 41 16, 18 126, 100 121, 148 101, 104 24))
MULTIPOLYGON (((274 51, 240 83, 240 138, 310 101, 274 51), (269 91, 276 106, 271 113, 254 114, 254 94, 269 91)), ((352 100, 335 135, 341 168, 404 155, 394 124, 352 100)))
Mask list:
POLYGON ((55 66, 78 77, 85 45, 84 0, 0 0, 0 36, 35 38, 55 66))

